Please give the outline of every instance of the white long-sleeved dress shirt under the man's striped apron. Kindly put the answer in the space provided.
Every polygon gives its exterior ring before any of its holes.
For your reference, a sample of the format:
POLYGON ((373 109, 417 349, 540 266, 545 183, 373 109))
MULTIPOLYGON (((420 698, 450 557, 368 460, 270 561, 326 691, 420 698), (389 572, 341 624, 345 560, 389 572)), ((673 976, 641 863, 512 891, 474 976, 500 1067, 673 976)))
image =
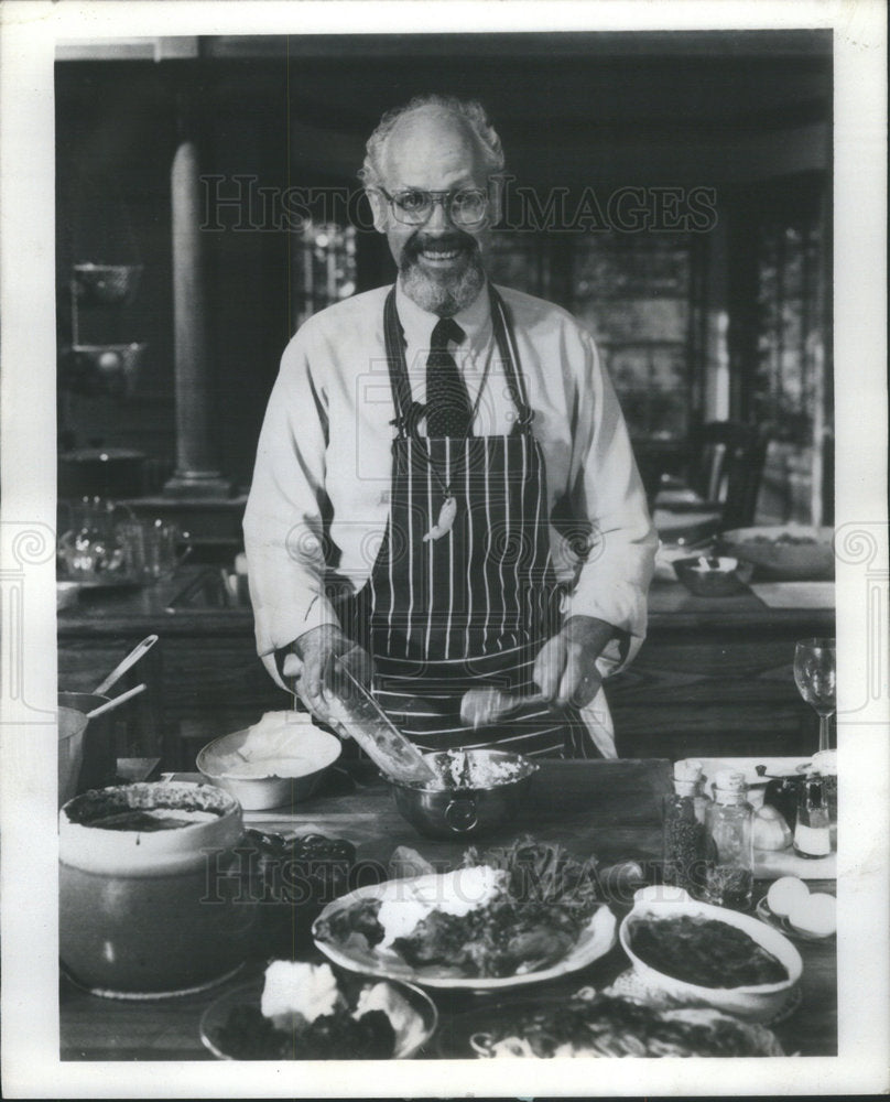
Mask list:
MULTIPOLYGON (((574 580, 565 615, 596 616, 618 629, 600 662, 607 673, 629 661, 645 635, 658 545, 625 420, 590 334, 560 306, 498 290, 513 322, 550 509, 567 498, 571 516, 593 526, 586 560, 553 526, 551 549, 556 576, 574 580)), ((257 647, 275 680, 275 650, 338 623, 326 580, 358 591, 386 531, 395 435, 383 339, 388 292, 378 288, 311 317, 287 345, 269 400, 243 528, 257 647), (325 541, 328 563, 334 555, 327 569, 325 541)), ((397 310, 412 396, 423 402, 438 317, 398 284, 397 310)), ((508 433, 517 410, 487 291, 455 321, 466 334, 452 353, 476 404, 474 434, 508 433)))

